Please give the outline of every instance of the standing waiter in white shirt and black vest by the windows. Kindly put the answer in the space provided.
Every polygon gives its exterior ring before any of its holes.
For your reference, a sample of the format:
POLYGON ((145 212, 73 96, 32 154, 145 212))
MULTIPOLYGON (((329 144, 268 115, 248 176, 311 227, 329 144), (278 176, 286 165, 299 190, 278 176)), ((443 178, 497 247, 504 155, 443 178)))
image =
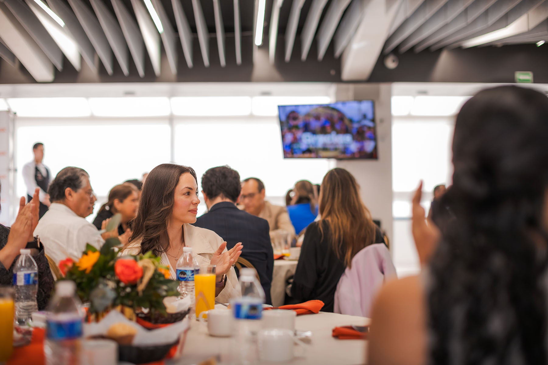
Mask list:
POLYGON ((34 153, 34 160, 23 166, 23 179, 27 187, 27 199, 31 201, 32 195, 35 189, 40 188, 40 218, 48 211, 49 207, 49 195, 48 187, 50 181, 50 172, 48 167, 42 164, 44 159, 44 144, 41 142, 35 143, 32 146, 32 153, 34 153))

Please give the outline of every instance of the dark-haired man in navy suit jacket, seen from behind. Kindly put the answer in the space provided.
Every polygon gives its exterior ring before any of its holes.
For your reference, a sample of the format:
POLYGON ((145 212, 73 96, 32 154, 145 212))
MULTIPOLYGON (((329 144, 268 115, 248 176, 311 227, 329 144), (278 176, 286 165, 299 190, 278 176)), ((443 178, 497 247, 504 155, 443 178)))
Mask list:
POLYGON ((239 173, 228 166, 213 167, 202 176, 202 194, 208 212, 198 217, 196 227, 214 231, 227 242, 230 250, 242 242, 241 257, 255 266, 266 304, 272 304, 270 284, 274 267, 274 252, 270 243, 269 222, 236 207, 242 190, 239 173))

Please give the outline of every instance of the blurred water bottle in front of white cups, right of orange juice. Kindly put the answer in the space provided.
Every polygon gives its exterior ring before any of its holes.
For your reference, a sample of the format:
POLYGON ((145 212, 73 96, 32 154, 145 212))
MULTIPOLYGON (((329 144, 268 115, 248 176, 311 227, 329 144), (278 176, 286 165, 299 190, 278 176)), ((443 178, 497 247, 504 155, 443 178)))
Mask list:
POLYGON ((231 303, 236 322, 236 336, 230 362, 250 365, 258 362, 256 333, 260 329, 265 292, 256 279, 253 269, 242 268, 239 282, 242 297, 233 299, 231 303))

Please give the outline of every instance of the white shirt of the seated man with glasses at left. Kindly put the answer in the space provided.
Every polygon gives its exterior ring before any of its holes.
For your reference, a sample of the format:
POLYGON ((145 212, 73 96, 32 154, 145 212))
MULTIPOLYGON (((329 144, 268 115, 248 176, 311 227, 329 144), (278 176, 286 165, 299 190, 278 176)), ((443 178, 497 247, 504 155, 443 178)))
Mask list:
POLYGON ((82 257, 86 244, 101 248, 105 243, 93 224, 60 203, 50 205, 38 221, 34 235, 40 236, 45 254, 56 264, 67 257, 77 261, 82 257))

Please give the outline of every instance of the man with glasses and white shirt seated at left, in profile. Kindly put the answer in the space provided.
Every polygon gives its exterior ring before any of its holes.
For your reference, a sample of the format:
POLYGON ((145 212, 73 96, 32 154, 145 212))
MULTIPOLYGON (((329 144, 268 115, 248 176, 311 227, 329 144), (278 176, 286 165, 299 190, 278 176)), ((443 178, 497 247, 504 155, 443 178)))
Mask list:
POLYGON ((48 193, 52 204, 34 234, 40 237, 45 254, 56 264, 67 257, 78 260, 86 244, 100 248, 105 243, 99 230, 85 220, 97 200, 87 172, 65 167, 50 184, 48 193))

